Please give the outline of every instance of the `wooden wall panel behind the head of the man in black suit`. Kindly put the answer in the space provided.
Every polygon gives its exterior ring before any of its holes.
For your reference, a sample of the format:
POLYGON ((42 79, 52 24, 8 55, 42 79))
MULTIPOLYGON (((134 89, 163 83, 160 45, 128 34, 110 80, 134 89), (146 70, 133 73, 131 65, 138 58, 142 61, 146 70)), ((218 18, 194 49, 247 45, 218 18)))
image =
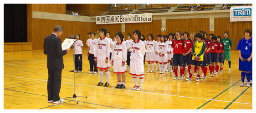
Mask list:
POLYGON ((60 25, 63 28, 63 34, 60 37, 61 41, 70 35, 78 33, 84 46, 86 46, 86 40, 88 39, 87 33, 92 31, 92 23, 89 22, 33 19, 32 25, 33 50, 43 49, 44 38, 53 33, 56 25, 60 25))

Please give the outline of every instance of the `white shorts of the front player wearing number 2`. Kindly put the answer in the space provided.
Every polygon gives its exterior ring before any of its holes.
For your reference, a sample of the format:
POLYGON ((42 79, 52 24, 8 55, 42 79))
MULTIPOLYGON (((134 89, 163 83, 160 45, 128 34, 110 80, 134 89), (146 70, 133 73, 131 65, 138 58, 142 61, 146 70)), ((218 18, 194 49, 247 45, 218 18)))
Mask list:
POLYGON ((122 66, 122 59, 112 59, 114 61, 113 63, 113 70, 114 73, 125 73, 127 72, 126 69, 126 61, 124 61, 124 66, 122 66))

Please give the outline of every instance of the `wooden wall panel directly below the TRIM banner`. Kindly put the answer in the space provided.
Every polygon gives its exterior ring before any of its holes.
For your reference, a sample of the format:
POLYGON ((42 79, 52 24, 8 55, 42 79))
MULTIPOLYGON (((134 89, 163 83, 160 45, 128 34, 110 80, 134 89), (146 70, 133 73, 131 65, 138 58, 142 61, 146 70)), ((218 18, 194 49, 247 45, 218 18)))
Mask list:
POLYGON ((251 22, 230 22, 230 18, 215 18, 214 19, 214 34, 224 38, 224 32, 229 32, 229 38, 232 40, 233 45, 231 50, 237 50, 236 47, 240 39, 244 38, 246 29, 252 30, 251 22))

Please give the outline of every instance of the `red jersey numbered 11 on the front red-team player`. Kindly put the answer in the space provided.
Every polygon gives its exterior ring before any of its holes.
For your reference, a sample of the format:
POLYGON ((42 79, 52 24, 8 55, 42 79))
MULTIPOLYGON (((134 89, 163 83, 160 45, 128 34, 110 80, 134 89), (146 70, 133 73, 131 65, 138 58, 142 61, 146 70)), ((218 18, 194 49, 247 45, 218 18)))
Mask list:
POLYGON ((184 41, 182 39, 180 40, 174 39, 172 43, 172 47, 174 48, 174 54, 183 54, 184 41))

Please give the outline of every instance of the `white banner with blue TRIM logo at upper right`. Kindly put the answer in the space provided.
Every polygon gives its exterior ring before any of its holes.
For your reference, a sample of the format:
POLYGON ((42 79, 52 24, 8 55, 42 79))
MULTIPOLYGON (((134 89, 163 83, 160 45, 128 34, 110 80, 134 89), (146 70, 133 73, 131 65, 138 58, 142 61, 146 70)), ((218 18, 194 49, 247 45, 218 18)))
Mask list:
POLYGON ((252 21, 252 6, 230 8, 230 22, 252 21))

